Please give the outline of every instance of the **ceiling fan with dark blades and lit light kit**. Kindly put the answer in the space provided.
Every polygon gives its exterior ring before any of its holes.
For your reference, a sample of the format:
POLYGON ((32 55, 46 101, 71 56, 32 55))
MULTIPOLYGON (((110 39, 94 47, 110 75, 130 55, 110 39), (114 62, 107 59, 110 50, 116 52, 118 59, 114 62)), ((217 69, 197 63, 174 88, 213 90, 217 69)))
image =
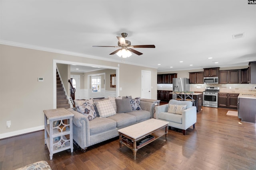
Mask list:
POLYGON ((127 33, 121 33, 122 37, 116 37, 118 39, 118 46, 98 46, 93 45, 92 47, 121 47, 121 49, 117 49, 116 51, 110 53, 110 55, 117 54, 119 57, 130 57, 132 53, 136 55, 142 55, 139 51, 134 50, 133 48, 156 48, 155 45, 131 45, 131 41, 125 40, 127 37, 127 33), (131 53, 132 52, 132 53, 131 53))

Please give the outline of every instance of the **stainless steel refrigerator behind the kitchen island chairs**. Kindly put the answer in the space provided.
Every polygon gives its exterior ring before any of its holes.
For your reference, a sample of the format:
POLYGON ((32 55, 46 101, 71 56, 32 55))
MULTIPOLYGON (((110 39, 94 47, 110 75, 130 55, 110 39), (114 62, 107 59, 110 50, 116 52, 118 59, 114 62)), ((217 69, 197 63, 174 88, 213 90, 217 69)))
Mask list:
POLYGON ((172 87, 175 92, 188 92, 190 90, 189 78, 173 78, 172 87))

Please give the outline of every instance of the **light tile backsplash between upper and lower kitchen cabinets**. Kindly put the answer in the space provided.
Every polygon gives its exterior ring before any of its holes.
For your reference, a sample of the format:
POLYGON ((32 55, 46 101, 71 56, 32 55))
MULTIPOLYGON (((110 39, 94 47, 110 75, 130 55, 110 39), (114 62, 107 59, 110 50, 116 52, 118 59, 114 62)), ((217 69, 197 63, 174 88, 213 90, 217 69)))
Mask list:
MULTIPOLYGON (((206 86, 220 87, 221 93, 256 94, 256 84, 190 84, 190 91, 203 92, 206 86)), ((172 84, 157 84, 157 90, 172 90, 172 84)))

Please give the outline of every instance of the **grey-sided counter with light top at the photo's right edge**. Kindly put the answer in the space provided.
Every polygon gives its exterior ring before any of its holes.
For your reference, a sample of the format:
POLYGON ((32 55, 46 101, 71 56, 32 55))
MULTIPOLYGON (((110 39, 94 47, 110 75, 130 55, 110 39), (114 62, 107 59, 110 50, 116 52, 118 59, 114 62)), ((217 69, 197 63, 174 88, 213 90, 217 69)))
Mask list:
POLYGON ((238 118, 241 121, 256 123, 256 95, 239 94, 238 118))

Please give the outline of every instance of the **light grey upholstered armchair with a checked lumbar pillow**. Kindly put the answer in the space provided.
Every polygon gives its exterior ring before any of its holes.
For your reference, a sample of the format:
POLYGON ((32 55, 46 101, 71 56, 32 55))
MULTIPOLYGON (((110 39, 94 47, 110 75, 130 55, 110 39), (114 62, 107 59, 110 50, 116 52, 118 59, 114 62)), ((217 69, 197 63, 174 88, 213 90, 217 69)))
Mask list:
POLYGON ((156 119, 168 121, 170 127, 182 129, 185 135, 190 126, 195 128, 196 107, 190 101, 170 100, 169 104, 156 107, 156 119))

